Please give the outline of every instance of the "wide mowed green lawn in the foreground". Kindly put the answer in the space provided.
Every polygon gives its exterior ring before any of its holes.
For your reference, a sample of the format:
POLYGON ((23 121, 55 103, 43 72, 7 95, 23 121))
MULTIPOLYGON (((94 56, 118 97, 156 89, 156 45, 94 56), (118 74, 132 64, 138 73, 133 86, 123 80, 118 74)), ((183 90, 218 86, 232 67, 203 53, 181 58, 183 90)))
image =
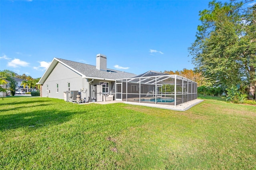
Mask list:
POLYGON ((180 112, 5 98, 0 169, 256 169, 256 107, 204 100, 180 112))

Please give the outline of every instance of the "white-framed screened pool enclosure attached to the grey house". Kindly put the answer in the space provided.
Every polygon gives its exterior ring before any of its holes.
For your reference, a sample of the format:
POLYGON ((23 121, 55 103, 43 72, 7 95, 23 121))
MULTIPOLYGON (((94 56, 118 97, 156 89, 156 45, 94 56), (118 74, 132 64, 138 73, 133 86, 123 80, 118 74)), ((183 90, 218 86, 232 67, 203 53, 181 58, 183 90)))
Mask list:
POLYGON ((197 99, 197 83, 181 77, 156 71, 128 79, 116 79, 116 100, 180 105, 197 99))

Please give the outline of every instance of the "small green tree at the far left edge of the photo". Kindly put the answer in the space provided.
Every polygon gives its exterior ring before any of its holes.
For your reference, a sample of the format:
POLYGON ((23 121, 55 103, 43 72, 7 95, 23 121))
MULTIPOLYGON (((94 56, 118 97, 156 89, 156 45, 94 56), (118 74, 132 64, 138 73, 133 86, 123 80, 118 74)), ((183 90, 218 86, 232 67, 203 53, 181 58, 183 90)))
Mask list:
POLYGON ((6 77, 5 79, 10 81, 10 83, 8 83, 8 88, 10 88, 12 96, 15 95, 15 89, 16 89, 16 83, 17 83, 14 80, 15 76, 16 76, 16 74, 13 71, 10 71, 10 70, 0 71, 0 77, 6 77))

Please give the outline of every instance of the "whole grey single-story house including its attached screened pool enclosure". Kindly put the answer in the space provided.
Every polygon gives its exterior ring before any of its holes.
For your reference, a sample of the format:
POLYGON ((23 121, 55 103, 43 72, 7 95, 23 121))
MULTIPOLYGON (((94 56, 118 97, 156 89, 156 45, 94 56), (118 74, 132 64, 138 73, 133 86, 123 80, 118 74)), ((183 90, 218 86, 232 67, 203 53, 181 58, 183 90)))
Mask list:
POLYGON ((96 66, 54 58, 38 84, 41 97, 65 101, 102 101, 111 95, 119 101, 176 106, 197 99, 197 83, 192 80, 157 71, 135 75, 107 69, 102 54, 96 55, 96 66))

